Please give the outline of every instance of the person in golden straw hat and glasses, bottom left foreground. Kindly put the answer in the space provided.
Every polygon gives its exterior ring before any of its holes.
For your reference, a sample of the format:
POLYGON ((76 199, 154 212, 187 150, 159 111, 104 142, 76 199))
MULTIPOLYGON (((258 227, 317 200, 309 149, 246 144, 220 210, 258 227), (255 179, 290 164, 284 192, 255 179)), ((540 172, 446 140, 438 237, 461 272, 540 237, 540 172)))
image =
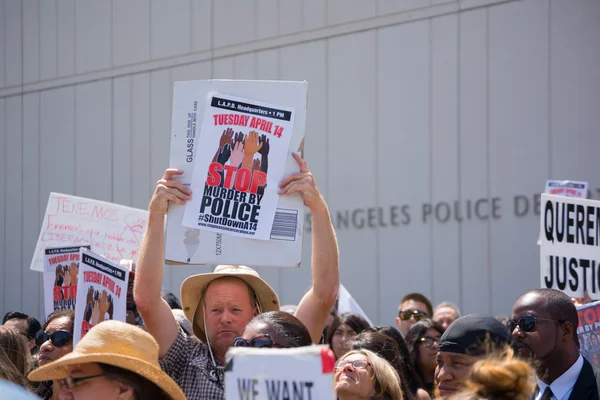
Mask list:
POLYGON ((185 400, 158 364, 158 344, 142 329, 108 320, 94 326, 73 352, 29 373, 54 380, 61 399, 185 400))

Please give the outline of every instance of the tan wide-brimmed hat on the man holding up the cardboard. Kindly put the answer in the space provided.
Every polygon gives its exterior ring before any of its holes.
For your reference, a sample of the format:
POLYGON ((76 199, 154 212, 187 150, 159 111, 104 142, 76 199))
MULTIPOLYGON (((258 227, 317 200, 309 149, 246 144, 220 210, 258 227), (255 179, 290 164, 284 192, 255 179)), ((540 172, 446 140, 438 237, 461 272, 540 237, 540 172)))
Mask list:
POLYGON ((246 282, 254 290, 261 312, 279 311, 277 293, 252 268, 243 265, 218 265, 212 273, 192 275, 181 284, 181 305, 185 316, 192 323, 194 335, 204 343, 204 307, 200 306, 200 301, 208 284, 224 277, 239 278, 246 282))

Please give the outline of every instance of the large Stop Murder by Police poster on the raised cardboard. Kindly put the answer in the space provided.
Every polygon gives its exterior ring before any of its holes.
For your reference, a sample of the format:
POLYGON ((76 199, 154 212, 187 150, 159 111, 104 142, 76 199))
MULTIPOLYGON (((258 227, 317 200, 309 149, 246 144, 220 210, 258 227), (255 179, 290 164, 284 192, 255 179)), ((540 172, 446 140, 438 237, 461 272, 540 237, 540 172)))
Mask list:
POLYGON ((183 225, 269 240, 293 125, 292 108, 213 94, 198 139, 195 195, 183 225))

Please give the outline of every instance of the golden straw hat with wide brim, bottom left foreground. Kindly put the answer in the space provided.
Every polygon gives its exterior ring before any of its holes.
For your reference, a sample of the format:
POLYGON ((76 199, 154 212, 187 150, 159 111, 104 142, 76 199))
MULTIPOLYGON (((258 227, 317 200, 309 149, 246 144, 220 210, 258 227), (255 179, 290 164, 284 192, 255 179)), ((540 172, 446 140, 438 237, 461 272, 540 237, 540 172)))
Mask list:
POLYGON ((93 327, 72 353, 32 371, 30 381, 64 379, 76 364, 102 363, 126 369, 154 382, 172 399, 185 400, 177 384, 158 364, 158 344, 149 333, 120 321, 104 321, 93 327))

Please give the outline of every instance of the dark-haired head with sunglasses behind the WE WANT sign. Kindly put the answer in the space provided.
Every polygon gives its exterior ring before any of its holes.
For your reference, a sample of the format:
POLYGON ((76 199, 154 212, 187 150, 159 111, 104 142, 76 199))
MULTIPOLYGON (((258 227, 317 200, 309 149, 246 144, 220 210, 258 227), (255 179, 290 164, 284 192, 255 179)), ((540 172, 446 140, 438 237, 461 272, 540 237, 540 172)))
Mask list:
POLYGON ((310 346, 312 339, 304 324, 292 314, 270 311, 258 314, 246 325, 234 347, 290 348, 310 346))

